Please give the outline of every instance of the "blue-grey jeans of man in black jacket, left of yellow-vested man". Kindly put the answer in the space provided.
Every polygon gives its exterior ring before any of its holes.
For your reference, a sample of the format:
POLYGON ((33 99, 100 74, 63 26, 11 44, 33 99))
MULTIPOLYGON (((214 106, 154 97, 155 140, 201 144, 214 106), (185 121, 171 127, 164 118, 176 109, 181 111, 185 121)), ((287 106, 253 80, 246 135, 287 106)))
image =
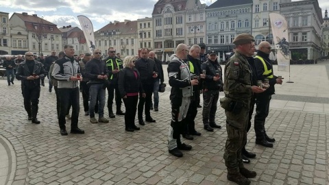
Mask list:
POLYGON ((103 89, 103 84, 92 84, 89 88, 90 102, 89 102, 89 114, 90 118, 95 117, 95 105, 97 99, 99 101, 98 105, 98 116, 102 118, 104 116, 104 106, 105 106, 105 94, 106 91, 103 89))

